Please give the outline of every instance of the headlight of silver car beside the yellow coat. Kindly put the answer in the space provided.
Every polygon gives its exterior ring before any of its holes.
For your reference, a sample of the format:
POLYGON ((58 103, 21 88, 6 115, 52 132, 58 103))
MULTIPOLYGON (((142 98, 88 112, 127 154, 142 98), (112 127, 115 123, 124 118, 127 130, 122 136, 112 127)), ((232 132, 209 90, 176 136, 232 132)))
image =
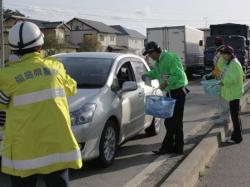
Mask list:
POLYGON ((92 121, 96 109, 96 104, 88 103, 83 105, 79 110, 71 112, 71 124, 83 125, 92 121))

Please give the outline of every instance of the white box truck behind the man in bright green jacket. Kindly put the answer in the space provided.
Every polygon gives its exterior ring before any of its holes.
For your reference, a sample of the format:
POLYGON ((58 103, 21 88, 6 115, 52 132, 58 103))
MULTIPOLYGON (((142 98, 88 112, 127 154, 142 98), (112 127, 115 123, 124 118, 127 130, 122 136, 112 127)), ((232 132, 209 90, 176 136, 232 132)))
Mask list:
MULTIPOLYGON (((162 49, 177 53, 188 76, 202 74, 204 32, 189 26, 147 28, 147 41, 155 41, 162 49)), ((148 60, 149 65, 152 61, 148 60)))

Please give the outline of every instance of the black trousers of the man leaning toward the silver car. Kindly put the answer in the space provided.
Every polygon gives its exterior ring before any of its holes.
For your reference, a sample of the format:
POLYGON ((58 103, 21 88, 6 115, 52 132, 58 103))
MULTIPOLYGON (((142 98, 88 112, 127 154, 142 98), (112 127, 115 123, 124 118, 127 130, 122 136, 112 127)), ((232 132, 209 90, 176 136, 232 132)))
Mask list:
MULTIPOLYGON (((170 92, 172 98, 176 99, 175 109, 172 118, 165 119, 167 133, 162 142, 161 149, 167 151, 183 151, 183 114, 186 94, 183 89, 170 92)), ((169 96, 167 94, 167 96, 169 96)))

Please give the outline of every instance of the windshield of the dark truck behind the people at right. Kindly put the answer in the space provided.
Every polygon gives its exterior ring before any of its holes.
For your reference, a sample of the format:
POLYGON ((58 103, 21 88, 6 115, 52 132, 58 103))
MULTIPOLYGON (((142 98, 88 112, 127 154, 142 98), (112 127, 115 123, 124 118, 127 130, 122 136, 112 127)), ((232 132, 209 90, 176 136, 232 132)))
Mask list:
MULTIPOLYGON (((208 37, 206 40, 206 49, 215 50, 214 46, 214 37, 208 37)), ((244 49, 244 39, 242 37, 224 37, 223 38, 225 45, 232 46, 236 51, 244 49)))

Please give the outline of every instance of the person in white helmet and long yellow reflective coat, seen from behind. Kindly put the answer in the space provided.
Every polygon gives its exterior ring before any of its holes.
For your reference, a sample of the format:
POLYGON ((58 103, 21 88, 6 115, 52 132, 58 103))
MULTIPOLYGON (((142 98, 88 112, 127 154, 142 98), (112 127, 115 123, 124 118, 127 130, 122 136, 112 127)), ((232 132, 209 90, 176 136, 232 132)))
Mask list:
POLYGON ((9 45, 20 59, 0 70, 0 110, 7 109, 1 169, 14 187, 36 186, 38 175, 47 186, 66 187, 68 168, 82 167, 66 98, 76 82, 62 63, 41 56, 43 43, 35 24, 17 22, 9 45))

